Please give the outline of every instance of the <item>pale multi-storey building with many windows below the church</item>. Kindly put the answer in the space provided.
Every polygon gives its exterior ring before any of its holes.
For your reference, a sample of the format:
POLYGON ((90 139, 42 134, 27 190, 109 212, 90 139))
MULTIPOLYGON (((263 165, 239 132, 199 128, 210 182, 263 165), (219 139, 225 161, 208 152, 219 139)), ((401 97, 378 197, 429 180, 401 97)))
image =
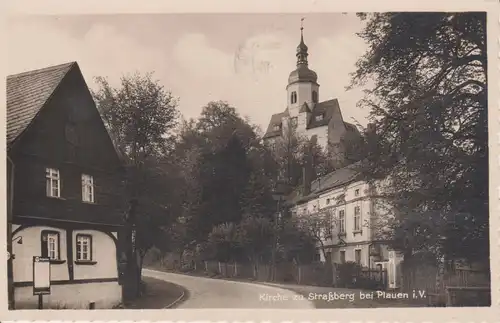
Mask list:
POLYGON ((394 252, 380 239, 380 226, 391 211, 376 190, 360 178, 354 164, 305 183, 289 196, 293 216, 328 220, 318 228, 326 249, 318 248, 319 261, 351 261, 367 268, 388 268, 399 261, 391 260, 394 252))

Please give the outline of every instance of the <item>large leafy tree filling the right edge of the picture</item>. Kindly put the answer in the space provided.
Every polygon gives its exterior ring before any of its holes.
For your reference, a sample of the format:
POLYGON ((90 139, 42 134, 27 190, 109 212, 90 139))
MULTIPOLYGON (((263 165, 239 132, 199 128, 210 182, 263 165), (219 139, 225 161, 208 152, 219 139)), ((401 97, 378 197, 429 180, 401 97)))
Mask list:
POLYGON ((392 182, 396 240, 407 255, 435 247, 487 261, 486 14, 360 17, 369 50, 351 85, 373 82, 360 105, 379 140, 365 166, 392 182))

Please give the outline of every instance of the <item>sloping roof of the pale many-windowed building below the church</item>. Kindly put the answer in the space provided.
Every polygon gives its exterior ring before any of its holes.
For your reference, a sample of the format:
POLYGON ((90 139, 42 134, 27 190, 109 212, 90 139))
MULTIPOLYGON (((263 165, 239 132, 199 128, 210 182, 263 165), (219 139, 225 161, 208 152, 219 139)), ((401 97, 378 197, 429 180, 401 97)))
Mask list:
POLYGON ((359 163, 354 163, 349 166, 337 169, 328 173, 311 183, 311 192, 307 195, 302 194, 302 187, 294 190, 287 198, 288 205, 303 203, 311 199, 319 197, 325 191, 342 187, 359 179, 360 173, 357 171, 359 163))

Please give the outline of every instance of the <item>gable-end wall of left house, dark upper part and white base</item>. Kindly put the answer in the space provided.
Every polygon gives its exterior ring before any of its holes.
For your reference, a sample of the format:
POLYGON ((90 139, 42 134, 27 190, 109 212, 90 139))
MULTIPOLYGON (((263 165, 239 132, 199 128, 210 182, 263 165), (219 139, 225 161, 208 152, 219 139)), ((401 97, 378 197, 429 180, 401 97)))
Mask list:
POLYGON ((15 240, 12 245, 15 307, 37 303, 33 256, 41 255, 43 230, 59 233, 60 259, 51 262, 52 293, 44 296, 50 306, 120 302, 117 237, 127 210, 124 169, 76 65, 8 153, 15 165, 12 238, 22 237, 22 244, 15 240), (47 196, 46 168, 59 170, 60 197, 47 196), (82 174, 93 177, 93 203, 82 201, 82 174), (90 262, 76 262, 78 233, 92 236, 90 262))

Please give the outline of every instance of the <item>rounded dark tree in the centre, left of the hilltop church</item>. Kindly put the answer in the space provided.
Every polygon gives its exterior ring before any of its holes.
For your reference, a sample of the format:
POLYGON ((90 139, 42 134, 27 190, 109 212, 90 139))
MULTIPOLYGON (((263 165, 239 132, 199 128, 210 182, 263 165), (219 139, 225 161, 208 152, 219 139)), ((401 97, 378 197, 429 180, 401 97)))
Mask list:
POLYGON ((256 128, 226 102, 209 102, 184 125, 174 155, 186 179, 186 225, 195 240, 206 240, 219 224, 238 224, 244 214, 268 215, 266 154, 256 128))

